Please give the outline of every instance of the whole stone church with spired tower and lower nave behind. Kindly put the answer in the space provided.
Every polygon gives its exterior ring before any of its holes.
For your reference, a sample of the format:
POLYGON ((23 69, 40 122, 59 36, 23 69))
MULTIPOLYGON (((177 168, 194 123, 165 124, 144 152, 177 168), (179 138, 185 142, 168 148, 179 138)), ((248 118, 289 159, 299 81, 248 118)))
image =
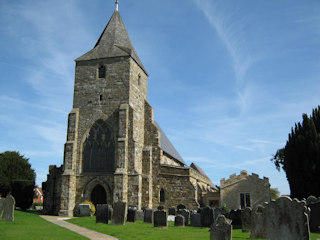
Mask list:
POLYGON ((75 62, 64 161, 49 167, 43 183, 45 213, 73 216, 84 200, 197 209, 203 196, 218 192, 195 163, 186 166, 154 120, 148 73, 118 9, 75 62))

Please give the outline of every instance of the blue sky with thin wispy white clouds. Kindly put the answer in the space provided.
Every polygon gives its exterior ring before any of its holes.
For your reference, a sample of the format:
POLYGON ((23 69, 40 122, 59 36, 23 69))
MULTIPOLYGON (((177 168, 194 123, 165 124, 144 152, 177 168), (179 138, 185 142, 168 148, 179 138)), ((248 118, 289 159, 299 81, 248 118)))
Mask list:
MULTIPOLYGON (((37 184, 61 165, 74 59, 92 49, 114 0, 0 1, 0 152, 30 158, 37 184)), ((214 184, 241 170, 288 194, 270 159, 320 104, 320 2, 120 1, 149 73, 155 119, 214 184)))

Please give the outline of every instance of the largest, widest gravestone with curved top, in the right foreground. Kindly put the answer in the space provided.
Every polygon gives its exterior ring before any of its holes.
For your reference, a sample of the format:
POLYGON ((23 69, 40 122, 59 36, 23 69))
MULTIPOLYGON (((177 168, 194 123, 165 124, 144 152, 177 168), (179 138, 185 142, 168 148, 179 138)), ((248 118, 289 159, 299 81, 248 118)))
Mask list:
POLYGON ((267 238, 310 239, 305 202, 289 197, 271 201, 265 208, 267 238))

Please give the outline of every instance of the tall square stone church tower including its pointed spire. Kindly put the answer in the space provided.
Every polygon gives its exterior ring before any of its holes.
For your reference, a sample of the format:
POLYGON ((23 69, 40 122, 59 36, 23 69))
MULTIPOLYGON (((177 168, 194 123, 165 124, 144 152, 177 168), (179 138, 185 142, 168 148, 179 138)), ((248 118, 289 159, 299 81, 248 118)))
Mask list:
MULTIPOLYGON (((59 213, 67 216, 82 199, 128 202, 128 188, 141 192, 148 80, 118 9, 94 48, 75 61, 59 213)), ((141 205, 141 196, 133 204, 141 205)))

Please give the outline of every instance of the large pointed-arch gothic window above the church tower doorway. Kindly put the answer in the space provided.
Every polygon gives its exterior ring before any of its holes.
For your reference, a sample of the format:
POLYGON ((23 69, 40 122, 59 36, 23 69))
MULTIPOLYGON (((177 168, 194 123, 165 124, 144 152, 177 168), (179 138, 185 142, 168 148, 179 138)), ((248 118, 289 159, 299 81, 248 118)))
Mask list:
POLYGON ((83 146, 83 172, 114 172, 115 146, 107 124, 98 120, 83 146))

